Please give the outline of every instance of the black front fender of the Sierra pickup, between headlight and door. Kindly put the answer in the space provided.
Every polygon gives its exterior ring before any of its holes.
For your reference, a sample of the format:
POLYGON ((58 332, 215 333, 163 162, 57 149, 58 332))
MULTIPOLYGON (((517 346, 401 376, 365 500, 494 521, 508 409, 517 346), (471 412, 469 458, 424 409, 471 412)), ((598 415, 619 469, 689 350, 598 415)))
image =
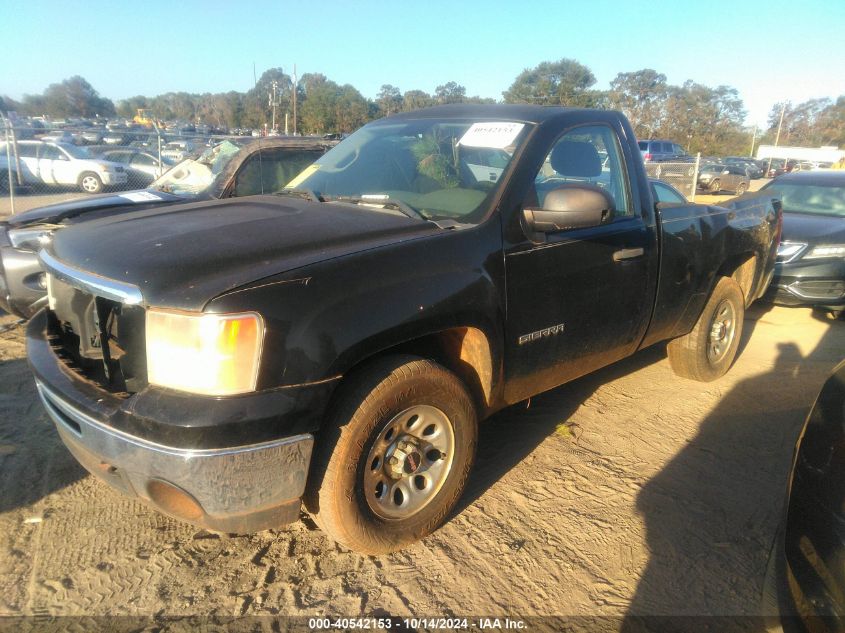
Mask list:
POLYGON ((407 341, 454 327, 488 337, 501 362, 504 266, 498 217, 289 271, 212 301, 265 319, 261 388, 337 377, 407 341))

